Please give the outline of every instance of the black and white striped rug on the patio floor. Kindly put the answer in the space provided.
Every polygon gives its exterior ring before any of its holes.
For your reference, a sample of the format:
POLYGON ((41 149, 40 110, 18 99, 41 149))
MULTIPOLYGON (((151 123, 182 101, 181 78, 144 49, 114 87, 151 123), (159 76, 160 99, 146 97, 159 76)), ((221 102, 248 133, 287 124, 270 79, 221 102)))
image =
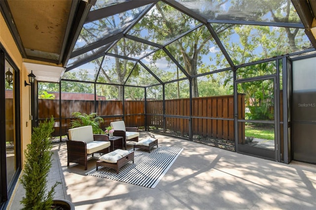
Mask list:
POLYGON ((150 153, 135 149, 134 164, 129 162, 119 170, 119 174, 114 169, 105 167, 99 168, 98 171, 94 169, 86 174, 155 188, 182 150, 173 146, 158 146, 150 153))

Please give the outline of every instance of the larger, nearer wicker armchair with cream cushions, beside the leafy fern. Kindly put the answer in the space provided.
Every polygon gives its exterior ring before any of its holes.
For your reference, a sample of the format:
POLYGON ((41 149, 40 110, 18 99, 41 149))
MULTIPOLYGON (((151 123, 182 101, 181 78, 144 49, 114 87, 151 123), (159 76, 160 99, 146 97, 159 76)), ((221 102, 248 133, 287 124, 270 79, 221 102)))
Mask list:
POLYGON ((87 170, 87 156, 95 152, 110 152, 111 142, 105 135, 93 135, 91 126, 69 129, 67 140, 67 166, 78 163, 87 170))

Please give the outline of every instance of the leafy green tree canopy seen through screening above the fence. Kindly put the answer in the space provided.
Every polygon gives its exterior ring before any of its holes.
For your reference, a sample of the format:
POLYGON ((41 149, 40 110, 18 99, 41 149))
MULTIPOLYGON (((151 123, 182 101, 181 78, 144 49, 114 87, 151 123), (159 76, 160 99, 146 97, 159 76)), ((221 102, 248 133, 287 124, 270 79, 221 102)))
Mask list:
MULTIPOLYGON (((139 87, 148 86, 147 97, 156 99, 162 98, 162 86, 168 99, 189 97, 190 84, 193 97, 232 94, 232 71, 238 65, 311 47, 303 29, 267 25, 300 23, 290 0, 203 0, 197 4, 203 10, 194 12, 209 22, 158 1, 143 15, 147 6, 84 24, 78 41, 84 45, 78 44, 76 49, 119 32, 123 36, 93 49, 93 55, 107 50, 67 71, 63 79, 97 82, 98 95, 118 100, 123 95, 144 98, 139 87), (230 20, 251 24, 233 24, 230 20), (223 71, 212 74, 218 70, 223 71)), ((107 5, 104 2, 98 6, 107 5)), ((237 76, 250 78, 275 73, 274 66, 269 63, 239 68, 237 76)), ((85 82, 62 81, 62 91, 94 93, 94 87, 85 82)))

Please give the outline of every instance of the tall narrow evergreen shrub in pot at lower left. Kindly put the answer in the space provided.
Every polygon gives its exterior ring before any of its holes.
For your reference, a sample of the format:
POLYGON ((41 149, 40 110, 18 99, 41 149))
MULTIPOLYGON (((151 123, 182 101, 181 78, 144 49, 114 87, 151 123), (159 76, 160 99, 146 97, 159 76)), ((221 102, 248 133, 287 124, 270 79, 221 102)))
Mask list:
MULTIPOLYGON (((55 187, 60 182, 56 181, 47 191, 47 176, 52 166, 52 152, 50 151, 52 145, 49 139, 53 131, 53 118, 49 121, 46 119, 44 122, 40 122, 39 127, 33 128, 31 143, 24 150, 25 163, 23 175, 20 178, 20 182, 25 189, 25 197, 21 200, 24 209, 50 210, 52 208, 56 209, 58 205, 53 204, 53 196, 55 187)), ((56 201, 60 203, 60 200, 56 201)), ((64 207, 69 206, 69 210, 71 208, 75 209, 74 205, 68 201, 64 201, 62 205, 64 207)))

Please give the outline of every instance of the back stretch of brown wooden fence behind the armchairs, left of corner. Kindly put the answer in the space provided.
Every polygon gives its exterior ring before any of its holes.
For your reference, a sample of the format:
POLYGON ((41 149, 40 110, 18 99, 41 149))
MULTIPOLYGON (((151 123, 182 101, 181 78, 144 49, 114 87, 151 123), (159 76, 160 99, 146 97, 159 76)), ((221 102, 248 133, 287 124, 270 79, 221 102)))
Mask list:
MULTIPOLYGON (((85 100, 61 100, 61 116, 59 100, 39 99, 39 119, 46 119, 53 116, 55 118, 55 132, 53 136, 60 135, 60 124, 62 135, 66 135, 71 127, 72 113, 81 112, 90 114, 95 112, 104 117, 104 123, 100 127, 105 130, 112 121, 121 120, 123 115, 123 105, 121 101, 85 101, 85 100), (117 115, 117 116, 115 116, 117 115), (61 120, 59 120, 61 118, 61 120)), ((125 124, 127 127, 140 127, 145 125, 145 102, 125 101, 125 124)))

